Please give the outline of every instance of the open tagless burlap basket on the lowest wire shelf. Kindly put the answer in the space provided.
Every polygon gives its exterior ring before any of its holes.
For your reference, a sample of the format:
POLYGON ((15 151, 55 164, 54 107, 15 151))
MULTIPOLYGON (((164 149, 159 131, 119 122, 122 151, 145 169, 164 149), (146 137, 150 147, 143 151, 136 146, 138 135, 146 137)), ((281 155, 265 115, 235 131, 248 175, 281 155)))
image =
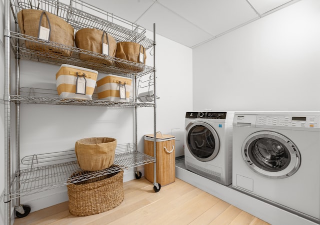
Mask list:
POLYGON ((116 139, 84 138, 75 142, 75 155, 82 170, 97 171, 109 168, 114 161, 116 139))

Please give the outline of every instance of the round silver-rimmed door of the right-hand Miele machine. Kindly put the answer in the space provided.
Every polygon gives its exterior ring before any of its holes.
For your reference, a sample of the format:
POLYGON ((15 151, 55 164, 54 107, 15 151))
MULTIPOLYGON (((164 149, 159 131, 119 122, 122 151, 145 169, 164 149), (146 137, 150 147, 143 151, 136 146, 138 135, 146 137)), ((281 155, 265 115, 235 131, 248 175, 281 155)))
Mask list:
POLYGON ((291 140, 271 131, 259 131, 243 142, 242 157, 254 172, 268 178, 280 179, 294 174, 301 156, 291 140))

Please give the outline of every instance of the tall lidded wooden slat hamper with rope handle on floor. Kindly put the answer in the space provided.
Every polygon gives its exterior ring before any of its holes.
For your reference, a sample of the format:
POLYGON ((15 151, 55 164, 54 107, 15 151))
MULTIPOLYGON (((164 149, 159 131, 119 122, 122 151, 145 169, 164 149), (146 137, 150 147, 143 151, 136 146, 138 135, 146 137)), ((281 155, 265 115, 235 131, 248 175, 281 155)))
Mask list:
MULTIPOLYGON (((154 157, 153 134, 144 135, 144 153, 154 157)), ((175 181, 175 137, 167 134, 156 134, 156 182, 161 186, 175 181)), ((154 181, 154 165, 144 165, 144 177, 154 181)))

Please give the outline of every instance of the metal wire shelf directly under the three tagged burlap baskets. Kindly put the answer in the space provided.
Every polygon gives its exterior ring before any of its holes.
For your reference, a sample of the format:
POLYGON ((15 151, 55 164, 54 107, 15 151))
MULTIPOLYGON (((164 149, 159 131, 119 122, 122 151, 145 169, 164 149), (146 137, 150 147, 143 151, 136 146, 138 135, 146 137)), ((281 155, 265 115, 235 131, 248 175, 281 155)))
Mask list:
POLYGON ((20 59, 57 65, 63 63, 71 64, 94 69, 103 73, 110 73, 127 77, 131 77, 132 75, 141 77, 154 71, 153 67, 141 63, 131 62, 128 60, 115 58, 112 56, 107 56, 52 41, 43 41, 36 37, 24 35, 13 31, 10 32, 10 37, 12 50, 16 54, 15 57, 20 59), (26 47, 25 41, 28 42, 28 48, 26 47), (52 47, 56 52, 69 52, 71 56, 66 57, 59 53, 49 52, 48 49, 52 49, 52 47), (80 60, 79 53, 94 56, 96 62, 80 60), (112 65, 98 63, 99 60, 105 59, 112 61, 112 65), (117 67, 116 65, 121 65, 121 67, 117 67), (137 72, 137 70, 139 72, 137 72))

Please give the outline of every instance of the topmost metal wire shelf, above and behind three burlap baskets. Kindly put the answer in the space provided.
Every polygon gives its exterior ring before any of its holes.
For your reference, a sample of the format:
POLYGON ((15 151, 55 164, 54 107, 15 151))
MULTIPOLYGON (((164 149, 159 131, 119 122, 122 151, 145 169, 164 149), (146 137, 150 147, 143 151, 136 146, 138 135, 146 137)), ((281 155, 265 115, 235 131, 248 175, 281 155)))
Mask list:
POLYGON ((96 28, 112 35, 116 42, 136 42, 145 49, 153 46, 154 41, 145 36, 145 28, 81 0, 69 2, 64 4, 59 0, 11 0, 11 9, 15 20, 17 12, 21 9, 40 9, 59 16, 75 30, 96 28))

